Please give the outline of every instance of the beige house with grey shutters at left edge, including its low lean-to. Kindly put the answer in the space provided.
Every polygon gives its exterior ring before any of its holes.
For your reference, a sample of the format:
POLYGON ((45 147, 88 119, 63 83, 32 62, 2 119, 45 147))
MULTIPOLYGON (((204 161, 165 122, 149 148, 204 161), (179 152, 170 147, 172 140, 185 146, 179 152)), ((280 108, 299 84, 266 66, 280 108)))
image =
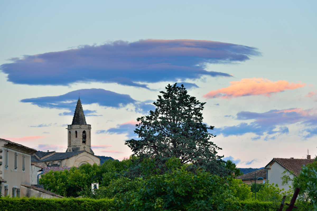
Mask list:
POLYGON ((36 152, 22 144, 0 139, 0 195, 62 198, 35 187, 38 171, 43 171, 42 167, 31 165, 31 157, 36 152))

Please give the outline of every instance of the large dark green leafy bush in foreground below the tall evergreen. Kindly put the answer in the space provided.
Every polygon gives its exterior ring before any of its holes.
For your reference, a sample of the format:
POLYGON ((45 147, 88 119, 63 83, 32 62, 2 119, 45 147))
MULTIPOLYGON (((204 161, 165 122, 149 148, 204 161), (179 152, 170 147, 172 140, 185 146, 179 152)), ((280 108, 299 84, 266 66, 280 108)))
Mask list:
POLYGON ((163 175, 152 171, 153 167, 144 168, 145 177, 148 179, 143 188, 115 197, 120 210, 196 211, 239 208, 237 202, 228 199, 228 185, 223 178, 205 171, 194 174, 186 171, 186 167, 180 164, 179 158, 171 158, 167 162, 171 173, 167 171, 163 175))

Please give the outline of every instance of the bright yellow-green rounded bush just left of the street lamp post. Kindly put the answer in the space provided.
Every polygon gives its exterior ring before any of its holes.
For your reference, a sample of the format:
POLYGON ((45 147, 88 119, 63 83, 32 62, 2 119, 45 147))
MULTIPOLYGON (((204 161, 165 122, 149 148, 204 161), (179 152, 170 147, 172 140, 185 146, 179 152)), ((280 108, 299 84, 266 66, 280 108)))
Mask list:
POLYGON ((252 197, 251 187, 242 182, 241 179, 232 179, 228 182, 230 193, 240 201, 250 199, 252 197))

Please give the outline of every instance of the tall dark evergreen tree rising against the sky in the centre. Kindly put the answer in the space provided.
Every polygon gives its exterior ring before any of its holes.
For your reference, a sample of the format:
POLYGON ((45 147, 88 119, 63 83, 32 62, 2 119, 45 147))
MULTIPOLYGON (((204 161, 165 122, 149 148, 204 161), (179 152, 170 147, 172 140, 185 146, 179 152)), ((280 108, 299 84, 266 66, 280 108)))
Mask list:
POLYGON ((168 84, 165 89, 153 103, 155 111, 137 119, 140 123, 134 132, 139 140, 127 140, 125 144, 140 159, 155 158, 159 168, 164 168, 166 160, 175 156, 182 164, 228 175, 230 171, 221 164, 222 156, 217 155, 221 148, 210 141, 215 136, 208 130, 214 127, 202 122, 205 102, 188 95, 183 84, 181 87, 168 84))

